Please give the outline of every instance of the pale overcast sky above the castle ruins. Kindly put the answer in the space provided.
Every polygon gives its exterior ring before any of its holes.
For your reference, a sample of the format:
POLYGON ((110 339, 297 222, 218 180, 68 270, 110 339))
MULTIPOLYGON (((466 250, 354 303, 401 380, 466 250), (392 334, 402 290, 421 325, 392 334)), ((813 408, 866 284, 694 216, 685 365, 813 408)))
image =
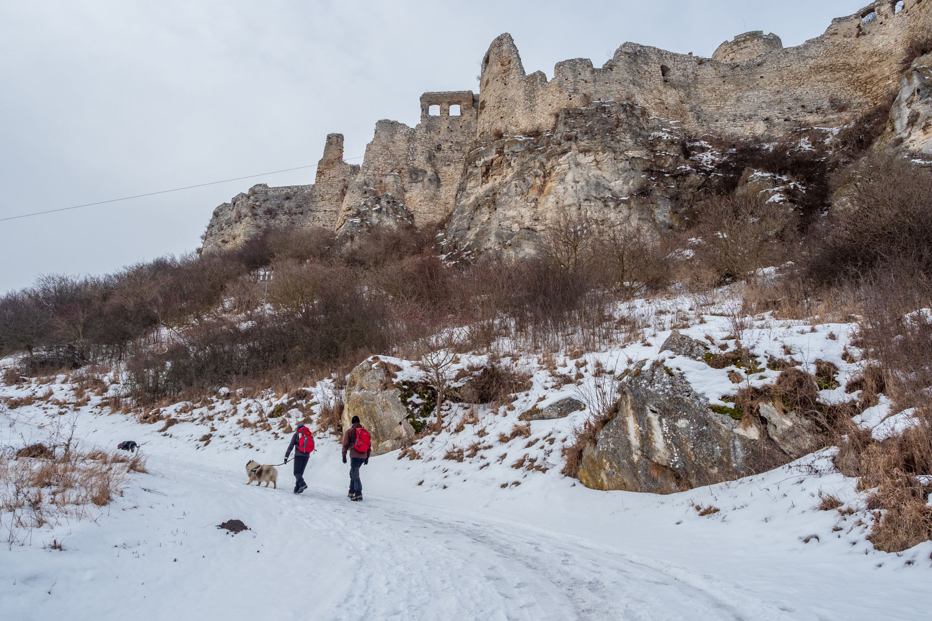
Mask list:
MULTIPOLYGON (((528 73, 625 41, 709 56, 725 39, 821 34, 867 0, 0 3, 0 218, 363 155, 427 90, 478 88, 511 33, 528 73)), ((194 250, 213 208, 269 175, 0 222, 0 291, 194 250)))

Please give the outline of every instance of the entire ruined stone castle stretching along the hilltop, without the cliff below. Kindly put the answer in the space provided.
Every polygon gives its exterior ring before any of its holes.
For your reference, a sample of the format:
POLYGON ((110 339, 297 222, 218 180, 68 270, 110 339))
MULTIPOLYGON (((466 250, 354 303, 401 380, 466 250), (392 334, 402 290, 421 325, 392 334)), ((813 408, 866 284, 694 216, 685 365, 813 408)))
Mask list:
MULTIPOLYGON (((928 41, 932 0, 881 0, 832 20, 825 34, 798 47, 784 48, 775 34, 752 32, 726 41, 712 59, 704 59, 625 43, 601 68, 588 59, 558 62, 548 81, 542 72, 526 74, 511 35, 501 34, 482 62, 478 95, 424 93, 415 127, 377 122, 361 166, 343 161, 343 136, 330 134, 313 185, 260 184, 236 196, 214 210, 203 249, 235 248, 276 227, 337 230, 366 201, 389 200, 384 195, 408 209, 418 225, 444 220, 482 194, 474 191, 470 175, 479 169, 473 154, 484 145, 502 136, 552 132, 561 111, 593 101, 630 102, 678 123, 684 136, 756 139, 841 127, 890 104, 910 67, 910 51, 928 41)), ((916 75, 912 81, 925 84, 925 74, 916 75)), ((900 125, 912 127, 916 116, 925 136, 926 115, 915 107, 900 115, 905 119, 900 125)), ((533 197, 519 198, 514 196, 508 209, 533 202, 533 197)), ((461 210, 459 220, 472 222, 461 210)))

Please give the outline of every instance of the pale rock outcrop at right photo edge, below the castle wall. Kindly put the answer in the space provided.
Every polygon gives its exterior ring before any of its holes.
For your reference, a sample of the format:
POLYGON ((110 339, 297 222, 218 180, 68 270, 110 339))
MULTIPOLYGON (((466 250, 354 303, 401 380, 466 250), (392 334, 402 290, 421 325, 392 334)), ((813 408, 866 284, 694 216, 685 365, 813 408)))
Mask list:
POLYGON ((932 53, 912 61, 900 80, 880 143, 932 155, 932 53))

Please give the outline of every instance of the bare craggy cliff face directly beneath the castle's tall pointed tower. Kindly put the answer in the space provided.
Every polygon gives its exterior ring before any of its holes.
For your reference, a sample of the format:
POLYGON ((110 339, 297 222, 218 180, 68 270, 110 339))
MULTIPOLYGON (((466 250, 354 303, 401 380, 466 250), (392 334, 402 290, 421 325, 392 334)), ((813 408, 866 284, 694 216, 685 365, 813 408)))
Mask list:
POLYGON ((567 220, 665 231, 706 182, 678 124, 628 102, 560 111, 553 131, 487 142, 466 158, 449 249, 524 258, 567 220))

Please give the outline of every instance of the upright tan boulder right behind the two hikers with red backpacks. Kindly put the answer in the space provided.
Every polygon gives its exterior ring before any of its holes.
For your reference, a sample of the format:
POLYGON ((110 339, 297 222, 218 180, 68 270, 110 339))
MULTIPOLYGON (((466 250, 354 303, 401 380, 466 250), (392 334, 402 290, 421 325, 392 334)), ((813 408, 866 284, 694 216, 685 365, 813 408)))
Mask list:
POLYGON ((348 429, 352 417, 359 416, 372 434, 373 455, 399 449, 405 439, 415 434, 392 376, 389 363, 377 356, 363 360, 347 376, 343 428, 348 429))

